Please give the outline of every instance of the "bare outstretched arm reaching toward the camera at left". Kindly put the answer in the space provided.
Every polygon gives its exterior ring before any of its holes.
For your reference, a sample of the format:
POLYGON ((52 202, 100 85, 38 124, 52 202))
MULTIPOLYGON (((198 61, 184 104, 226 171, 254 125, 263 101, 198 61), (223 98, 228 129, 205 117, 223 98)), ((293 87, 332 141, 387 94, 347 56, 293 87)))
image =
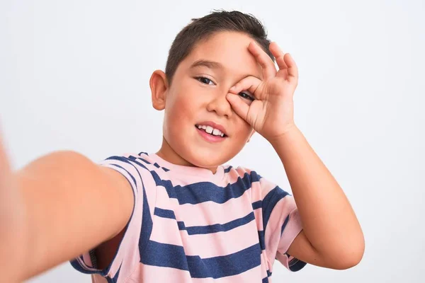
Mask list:
POLYGON ((113 238, 133 207, 128 181, 74 151, 11 172, 0 141, 0 270, 21 282, 113 238))

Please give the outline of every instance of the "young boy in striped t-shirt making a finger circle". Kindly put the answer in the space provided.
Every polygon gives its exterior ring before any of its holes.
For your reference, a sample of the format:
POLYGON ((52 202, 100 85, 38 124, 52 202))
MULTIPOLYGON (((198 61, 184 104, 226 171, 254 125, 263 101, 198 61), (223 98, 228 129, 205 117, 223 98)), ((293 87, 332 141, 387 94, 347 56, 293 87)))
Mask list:
POLYGON ((275 259, 292 271, 357 265, 361 227, 294 123, 296 86, 295 62, 256 18, 214 12, 183 28, 165 73, 152 74, 152 104, 164 110, 156 154, 95 164, 59 151, 11 173, 0 147, 5 282, 67 260, 93 282, 271 282, 275 259), (254 132, 293 195, 221 165, 254 132))

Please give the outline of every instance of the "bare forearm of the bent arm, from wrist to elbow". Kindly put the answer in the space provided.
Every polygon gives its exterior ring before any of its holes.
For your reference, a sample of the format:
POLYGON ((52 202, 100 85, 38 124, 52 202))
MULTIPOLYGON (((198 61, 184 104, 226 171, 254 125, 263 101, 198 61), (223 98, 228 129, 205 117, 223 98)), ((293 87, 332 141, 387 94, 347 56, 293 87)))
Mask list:
POLYGON ((271 142, 288 176, 304 233, 325 258, 363 255, 363 233, 343 190, 293 127, 271 142))

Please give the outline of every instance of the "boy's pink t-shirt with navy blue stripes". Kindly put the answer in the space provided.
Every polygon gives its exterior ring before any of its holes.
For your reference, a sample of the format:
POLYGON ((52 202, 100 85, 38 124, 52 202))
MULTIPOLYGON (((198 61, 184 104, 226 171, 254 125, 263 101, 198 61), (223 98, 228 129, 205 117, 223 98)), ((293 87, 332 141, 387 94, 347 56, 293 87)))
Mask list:
POLYGON ((302 230, 292 195, 247 168, 179 166, 157 154, 111 156, 101 165, 127 178, 135 204, 111 264, 93 251, 71 261, 92 282, 271 282, 277 259, 302 230))

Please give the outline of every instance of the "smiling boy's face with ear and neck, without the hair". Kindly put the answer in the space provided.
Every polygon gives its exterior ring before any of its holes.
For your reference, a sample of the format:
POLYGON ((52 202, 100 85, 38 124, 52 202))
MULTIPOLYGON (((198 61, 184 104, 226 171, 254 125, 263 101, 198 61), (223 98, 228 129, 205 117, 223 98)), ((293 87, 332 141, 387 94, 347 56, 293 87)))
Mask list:
MULTIPOLYGON (((166 83, 160 86, 165 81, 164 73, 152 74, 154 107, 162 110, 160 102, 158 106, 158 99, 162 99, 165 108, 160 156, 166 156, 172 163, 208 168, 215 173, 218 165, 242 150, 254 132, 232 110, 226 95, 229 88, 246 76, 262 79, 261 67, 247 49, 251 41, 251 37, 242 33, 216 33, 199 42, 179 64, 171 86, 166 83), (163 80, 159 79, 161 76, 163 80), (220 125, 213 127, 222 127, 225 136, 220 137, 220 132, 219 136, 213 136, 199 129, 210 122, 220 125)), ((245 93, 239 97, 250 104, 246 95, 252 95, 245 93)))

